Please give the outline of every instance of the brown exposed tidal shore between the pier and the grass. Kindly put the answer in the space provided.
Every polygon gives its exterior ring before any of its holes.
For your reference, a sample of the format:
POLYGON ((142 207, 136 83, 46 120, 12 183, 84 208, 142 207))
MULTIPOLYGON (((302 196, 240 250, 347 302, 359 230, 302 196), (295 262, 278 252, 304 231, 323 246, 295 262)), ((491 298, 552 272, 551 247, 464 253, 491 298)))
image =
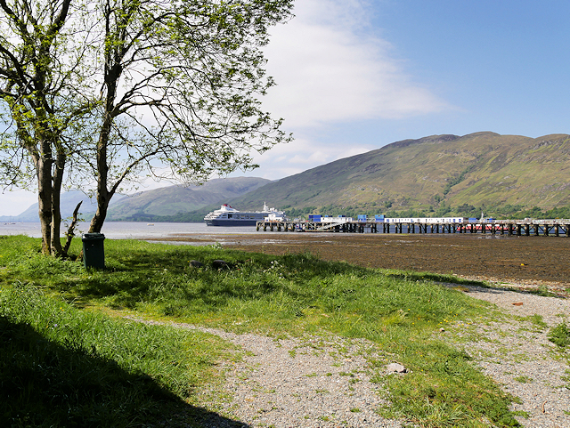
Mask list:
POLYGON ((570 238, 263 232, 184 235, 172 240, 219 242, 265 254, 311 252, 325 260, 366 267, 570 290, 570 238))

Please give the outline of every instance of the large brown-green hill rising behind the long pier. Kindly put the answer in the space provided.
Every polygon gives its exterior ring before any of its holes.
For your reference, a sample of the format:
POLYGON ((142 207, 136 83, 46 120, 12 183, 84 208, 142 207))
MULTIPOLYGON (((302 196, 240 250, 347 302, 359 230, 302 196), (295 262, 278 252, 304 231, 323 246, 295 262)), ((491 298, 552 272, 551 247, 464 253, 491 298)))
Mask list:
POLYGON ((264 201, 289 208, 289 214, 570 206, 570 136, 484 132, 396 141, 271 182, 230 202, 251 209, 264 201))

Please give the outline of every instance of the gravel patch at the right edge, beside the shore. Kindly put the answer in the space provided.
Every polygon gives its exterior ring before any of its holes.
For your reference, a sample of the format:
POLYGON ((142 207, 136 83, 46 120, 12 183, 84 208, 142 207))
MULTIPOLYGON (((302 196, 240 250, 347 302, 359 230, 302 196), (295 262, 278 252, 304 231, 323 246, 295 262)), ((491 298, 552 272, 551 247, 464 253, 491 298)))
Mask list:
POLYGON ((456 324, 449 328, 452 341, 463 346, 505 392, 518 397, 521 402, 512 410, 525 413, 526 417, 517 416, 520 424, 570 427, 570 352, 558 351, 547 338, 551 327, 564 320, 568 324, 570 300, 501 288, 467 288, 468 295, 494 303, 515 318, 499 317, 496 322, 475 326, 456 324), (548 327, 532 318, 536 315, 548 327))

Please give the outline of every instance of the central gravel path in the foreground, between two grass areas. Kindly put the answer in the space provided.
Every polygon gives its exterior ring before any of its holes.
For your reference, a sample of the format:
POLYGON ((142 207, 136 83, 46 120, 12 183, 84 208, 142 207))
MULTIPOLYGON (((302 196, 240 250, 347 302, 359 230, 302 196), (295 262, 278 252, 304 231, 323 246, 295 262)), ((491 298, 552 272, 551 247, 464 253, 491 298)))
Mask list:
POLYGON ((401 426, 375 412, 386 401, 379 397, 381 386, 370 382, 362 354, 373 352, 371 343, 200 330, 220 335, 246 351, 239 363, 229 367, 225 390, 233 400, 225 404, 224 412, 250 426, 401 426))

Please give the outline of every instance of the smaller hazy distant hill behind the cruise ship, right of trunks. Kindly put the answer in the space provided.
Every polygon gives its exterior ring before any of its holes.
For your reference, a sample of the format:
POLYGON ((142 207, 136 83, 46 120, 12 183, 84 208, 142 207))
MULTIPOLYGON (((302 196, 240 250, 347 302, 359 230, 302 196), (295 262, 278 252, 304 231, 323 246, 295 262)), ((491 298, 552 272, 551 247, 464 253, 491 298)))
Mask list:
POLYGON ((220 205, 267 183, 270 181, 263 178, 236 177, 214 179, 201 186, 170 186, 147 190, 122 198, 110 208, 107 220, 152 221, 157 216, 187 213, 204 206, 220 205))

